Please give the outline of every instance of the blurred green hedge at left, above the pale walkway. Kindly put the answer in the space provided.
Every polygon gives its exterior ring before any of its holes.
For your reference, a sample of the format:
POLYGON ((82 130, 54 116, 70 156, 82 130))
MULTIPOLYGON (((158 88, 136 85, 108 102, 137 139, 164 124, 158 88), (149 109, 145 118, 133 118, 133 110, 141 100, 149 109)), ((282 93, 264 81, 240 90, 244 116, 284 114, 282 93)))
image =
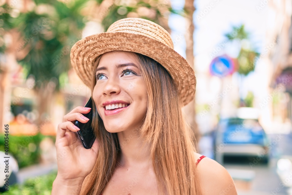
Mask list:
MULTIPOLYGON (((0 150, 4 151, 5 135, 0 134, 0 150)), ((8 135, 9 149, 8 153, 15 157, 19 168, 37 164, 40 160, 41 149, 39 144, 44 136, 40 133, 30 136, 8 135)), ((55 139, 55 137, 52 137, 55 139)))

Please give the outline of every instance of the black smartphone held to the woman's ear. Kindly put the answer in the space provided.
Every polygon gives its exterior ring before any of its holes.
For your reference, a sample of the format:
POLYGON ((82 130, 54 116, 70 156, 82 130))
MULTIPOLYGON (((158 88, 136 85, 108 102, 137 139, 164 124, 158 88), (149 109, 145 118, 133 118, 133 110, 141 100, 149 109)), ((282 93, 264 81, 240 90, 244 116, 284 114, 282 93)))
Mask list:
MULTIPOLYGON (((91 97, 87 101, 86 105, 84 107, 92 108, 92 99, 91 97)), ((95 134, 92 128, 92 118, 93 118, 93 111, 90 110, 89 113, 83 114, 86 118, 89 120, 86 123, 79 122, 78 120, 75 120, 74 125, 77 126, 80 130, 77 131, 84 148, 90 149, 94 140, 95 140, 95 134)))

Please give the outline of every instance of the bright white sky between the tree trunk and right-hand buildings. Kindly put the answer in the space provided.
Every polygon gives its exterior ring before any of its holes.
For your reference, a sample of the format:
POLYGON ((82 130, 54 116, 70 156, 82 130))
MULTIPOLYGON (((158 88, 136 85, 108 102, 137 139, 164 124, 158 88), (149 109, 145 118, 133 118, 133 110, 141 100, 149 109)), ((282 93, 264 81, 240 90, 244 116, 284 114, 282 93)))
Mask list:
MULTIPOLYGON (((204 66, 209 64, 212 60, 210 53, 226 40, 224 34, 231 32, 232 26, 241 24, 244 24, 246 31, 250 33, 254 48, 260 52, 265 42, 268 7, 258 11, 257 6, 260 6, 259 0, 196 1, 194 39, 197 63, 204 66)), ((237 51, 231 49, 231 46, 226 45, 223 49, 227 54, 237 56, 237 51)))

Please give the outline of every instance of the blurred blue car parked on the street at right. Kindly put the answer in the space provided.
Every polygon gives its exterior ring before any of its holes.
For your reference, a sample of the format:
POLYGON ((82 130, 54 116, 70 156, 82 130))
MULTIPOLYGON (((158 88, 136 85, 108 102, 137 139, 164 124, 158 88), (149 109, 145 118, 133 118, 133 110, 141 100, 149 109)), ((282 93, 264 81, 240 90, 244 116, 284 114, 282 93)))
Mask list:
POLYGON ((268 163, 267 134, 255 118, 225 118, 218 123, 214 144, 215 160, 224 163, 224 156, 252 157, 251 162, 268 163))

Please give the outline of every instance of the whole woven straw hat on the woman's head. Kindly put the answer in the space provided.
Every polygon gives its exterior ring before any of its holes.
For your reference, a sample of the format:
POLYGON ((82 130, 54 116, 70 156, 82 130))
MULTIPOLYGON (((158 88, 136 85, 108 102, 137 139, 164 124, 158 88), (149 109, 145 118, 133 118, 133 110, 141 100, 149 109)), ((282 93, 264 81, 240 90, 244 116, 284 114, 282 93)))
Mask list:
POLYGON ((109 51, 132 51, 156 60, 175 81, 181 103, 186 105, 194 98, 194 70, 173 50, 170 34, 156 23, 142 18, 124 18, 114 22, 107 32, 93 34, 75 43, 70 54, 71 64, 88 87, 93 79, 95 59, 109 51))

